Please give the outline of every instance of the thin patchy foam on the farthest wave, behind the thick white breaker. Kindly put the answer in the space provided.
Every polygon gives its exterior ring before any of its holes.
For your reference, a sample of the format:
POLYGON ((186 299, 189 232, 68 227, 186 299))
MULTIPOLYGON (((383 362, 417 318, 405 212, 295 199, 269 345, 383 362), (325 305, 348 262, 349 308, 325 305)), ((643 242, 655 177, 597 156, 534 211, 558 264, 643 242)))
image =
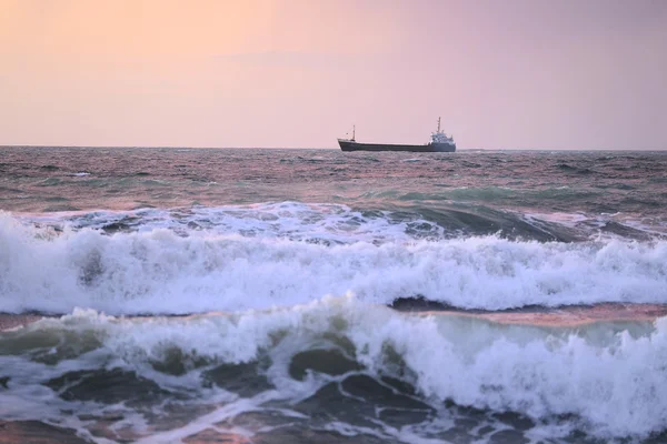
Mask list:
POLYGON ((23 223, 71 229, 102 229, 123 223, 131 231, 169 229, 179 234, 206 231, 248 238, 325 240, 336 243, 411 240, 410 229, 421 236, 442 236, 444 229, 416 216, 392 220, 389 212, 362 214, 347 205, 299 202, 226 205, 219 208, 141 209, 135 211, 58 212, 17 216, 23 223))

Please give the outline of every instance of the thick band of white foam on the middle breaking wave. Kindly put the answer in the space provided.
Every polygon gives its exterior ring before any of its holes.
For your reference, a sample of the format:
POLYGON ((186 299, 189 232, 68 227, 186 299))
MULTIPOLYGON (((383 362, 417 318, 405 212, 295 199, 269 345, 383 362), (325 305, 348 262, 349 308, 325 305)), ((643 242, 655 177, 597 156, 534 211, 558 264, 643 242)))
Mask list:
POLYGON ((365 233, 347 244, 312 243, 302 234, 188 234, 155 228, 106 235, 66 228, 56 235, 0 218, 0 312, 233 311, 347 292, 379 304, 424 295, 488 310, 667 303, 665 241, 538 243, 484 236, 427 242, 398 233, 376 245, 364 240, 365 233))

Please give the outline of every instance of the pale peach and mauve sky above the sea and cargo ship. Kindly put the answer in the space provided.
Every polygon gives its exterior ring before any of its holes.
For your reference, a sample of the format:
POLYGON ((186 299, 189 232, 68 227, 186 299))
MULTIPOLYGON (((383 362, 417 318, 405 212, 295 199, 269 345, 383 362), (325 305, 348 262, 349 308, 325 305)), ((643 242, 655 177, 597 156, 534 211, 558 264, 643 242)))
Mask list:
POLYGON ((0 0, 0 145, 667 149, 665 0, 0 0))

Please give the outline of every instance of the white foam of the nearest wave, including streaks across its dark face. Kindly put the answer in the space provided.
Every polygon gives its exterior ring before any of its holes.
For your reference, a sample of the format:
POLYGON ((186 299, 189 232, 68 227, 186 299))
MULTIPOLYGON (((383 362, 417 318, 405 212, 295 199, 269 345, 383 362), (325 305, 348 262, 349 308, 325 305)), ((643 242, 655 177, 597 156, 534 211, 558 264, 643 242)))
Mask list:
MULTIPOLYGON (((24 402, 11 404, 4 417, 49 417, 56 414, 54 406, 77 413, 99 410, 99 404, 64 402, 40 385, 96 366, 130 370, 172 392, 186 391, 197 402, 225 404, 187 421, 180 432, 171 430, 166 441, 243 411, 261 410, 266 403, 273 407, 280 400, 296 404, 352 374, 378 381, 400 377, 414 384, 419 398, 440 412, 439 427, 447 423, 445 401, 517 412, 535 421, 528 431, 534 436, 540 435, 541 427, 563 427, 559 418, 564 416, 569 417, 564 436, 580 430, 603 438, 646 437, 667 427, 667 319, 576 330, 507 326, 456 315, 397 313, 347 296, 289 309, 170 319, 115 319, 76 311, 0 335, 2 350, 17 344, 27 347, 23 354, 14 350, 13 355, 7 351, 0 355, 3 373, 10 376, 9 390, 0 391, 0 405, 18 397, 24 402), (69 340, 57 341, 48 352, 50 346, 43 342, 58 337, 69 340), (360 370, 319 373, 313 363, 303 379, 295 379, 289 371, 295 356, 321 349, 341 350, 360 370), (175 350, 189 371, 175 375, 156 370, 156 362, 169 362, 175 350), (44 353, 50 353, 48 363, 44 353), (201 375, 210 367, 257 362, 262 356, 270 360, 265 372, 270 387, 258 395, 241 396, 243 401, 201 385, 201 375)), ((293 413, 295 417, 299 414, 293 413)), ((327 426, 345 431, 339 422, 332 418, 327 426)), ((372 433, 379 436, 414 442, 408 433, 414 427, 402 428, 401 434, 380 421, 377 425, 372 433)), ((356 430, 354 425, 348 428, 356 430)), ((150 427, 140 434, 149 432, 150 427)), ((554 437, 552 428, 549 433, 554 437)))

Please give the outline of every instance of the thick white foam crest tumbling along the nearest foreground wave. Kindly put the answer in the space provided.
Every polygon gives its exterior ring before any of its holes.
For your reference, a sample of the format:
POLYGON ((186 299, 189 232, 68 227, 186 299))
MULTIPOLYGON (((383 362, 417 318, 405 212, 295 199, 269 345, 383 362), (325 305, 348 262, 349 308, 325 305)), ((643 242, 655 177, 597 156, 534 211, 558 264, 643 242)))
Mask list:
MULTIPOLYGON (((302 382, 288 377, 290 356, 327 335, 342 335, 354 344, 354 359, 370 374, 391 374, 396 365, 391 355, 398 354, 411 382, 432 405, 451 400, 458 405, 518 412, 542 425, 571 414, 573 427, 596 436, 645 437, 667 427, 667 317, 639 325, 631 334, 626 329, 502 326, 452 315, 404 314, 341 297, 187 319, 113 319, 77 311, 33 324, 28 333, 89 332, 101 340, 98 354, 109 353, 116 365, 151 379, 149 361, 173 346, 228 363, 268 353, 272 364, 267 375, 278 392, 265 397, 297 400, 330 379, 318 383, 317 377, 302 382)), ((60 366, 72 362, 44 367, 49 374, 62 372, 60 366)), ((0 393, 6 395, 11 391, 0 393)), ((206 417, 212 423, 222 413, 206 417)), ((193 425, 201 430, 211 425, 206 417, 190 422, 188 433, 197 432, 193 425)))

